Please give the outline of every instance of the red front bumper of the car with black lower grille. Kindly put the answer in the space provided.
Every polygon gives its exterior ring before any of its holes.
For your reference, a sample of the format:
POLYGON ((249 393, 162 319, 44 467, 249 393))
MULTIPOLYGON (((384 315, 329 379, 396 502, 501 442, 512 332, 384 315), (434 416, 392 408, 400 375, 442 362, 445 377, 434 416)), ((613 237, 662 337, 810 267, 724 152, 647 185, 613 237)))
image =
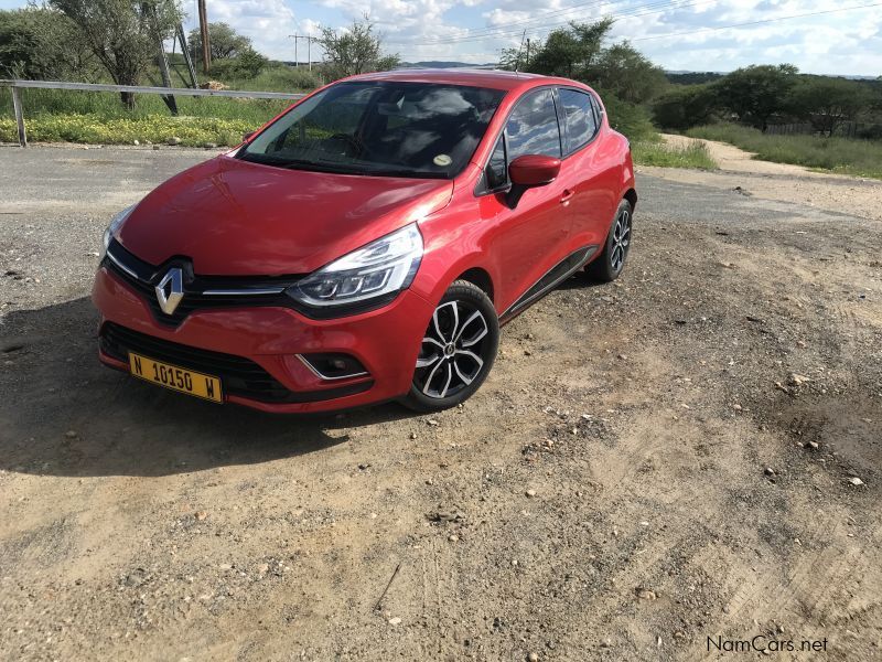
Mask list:
POLYGON ((169 327, 157 321, 142 293, 106 267, 98 269, 92 298, 101 313, 105 364, 129 372, 129 350, 152 354, 219 376, 225 402, 273 413, 329 412, 405 395, 433 311, 405 290, 384 308, 335 320, 243 306, 195 310, 169 327), (323 380, 298 359, 319 352, 349 354, 368 374, 323 380))

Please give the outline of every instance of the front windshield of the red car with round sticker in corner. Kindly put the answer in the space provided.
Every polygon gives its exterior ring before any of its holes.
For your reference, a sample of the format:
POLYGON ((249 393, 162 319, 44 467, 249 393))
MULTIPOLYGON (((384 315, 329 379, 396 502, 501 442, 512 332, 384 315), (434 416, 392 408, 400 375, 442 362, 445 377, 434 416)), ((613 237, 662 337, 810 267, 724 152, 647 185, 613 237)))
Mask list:
POLYGON ((450 179, 505 92, 391 81, 340 83, 297 105, 238 154, 344 174, 450 179))

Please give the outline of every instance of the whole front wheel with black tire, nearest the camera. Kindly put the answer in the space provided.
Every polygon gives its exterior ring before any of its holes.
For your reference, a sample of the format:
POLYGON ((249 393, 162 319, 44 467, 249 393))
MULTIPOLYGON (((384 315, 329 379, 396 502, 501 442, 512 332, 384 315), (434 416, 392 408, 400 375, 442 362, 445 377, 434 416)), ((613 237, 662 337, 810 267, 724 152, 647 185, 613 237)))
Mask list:
POLYGON ((493 301, 477 286, 455 281, 429 321, 402 404, 427 413, 465 402, 486 380, 498 349, 499 320, 493 301))

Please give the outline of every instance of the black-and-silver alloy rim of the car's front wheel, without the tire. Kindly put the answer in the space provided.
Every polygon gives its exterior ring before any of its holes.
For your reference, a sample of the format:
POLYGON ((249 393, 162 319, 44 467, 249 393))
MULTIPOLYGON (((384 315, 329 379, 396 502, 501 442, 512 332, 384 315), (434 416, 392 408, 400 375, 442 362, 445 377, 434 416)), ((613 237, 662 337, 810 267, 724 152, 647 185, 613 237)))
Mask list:
POLYGON ((415 386, 431 398, 456 395, 484 370, 491 344, 482 311, 459 299, 441 303, 422 339, 415 386))

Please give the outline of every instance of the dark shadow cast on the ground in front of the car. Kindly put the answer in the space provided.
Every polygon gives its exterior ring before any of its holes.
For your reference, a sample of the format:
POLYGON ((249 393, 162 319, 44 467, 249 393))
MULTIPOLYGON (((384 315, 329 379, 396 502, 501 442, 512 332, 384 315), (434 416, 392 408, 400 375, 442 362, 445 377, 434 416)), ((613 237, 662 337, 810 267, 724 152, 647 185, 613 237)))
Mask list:
POLYGON ((396 404, 280 416, 166 392, 103 366, 87 298, 8 313, 0 329, 0 469, 170 476, 327 449, 346 429, 413 416, 396 404))

